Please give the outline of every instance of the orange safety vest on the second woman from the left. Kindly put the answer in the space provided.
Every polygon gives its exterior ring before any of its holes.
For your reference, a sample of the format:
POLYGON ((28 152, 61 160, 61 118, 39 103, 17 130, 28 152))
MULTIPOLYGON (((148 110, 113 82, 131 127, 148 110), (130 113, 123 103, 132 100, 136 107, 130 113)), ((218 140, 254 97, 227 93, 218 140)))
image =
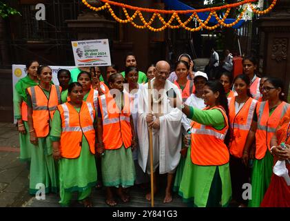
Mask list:
POLYGON ((50 119, 61 104, 61 87, 50 86, 50 97, 46 97, 39 85, 27 89, 32 102, 33 128, 37 137, 46 137, 50 132, 50 119))

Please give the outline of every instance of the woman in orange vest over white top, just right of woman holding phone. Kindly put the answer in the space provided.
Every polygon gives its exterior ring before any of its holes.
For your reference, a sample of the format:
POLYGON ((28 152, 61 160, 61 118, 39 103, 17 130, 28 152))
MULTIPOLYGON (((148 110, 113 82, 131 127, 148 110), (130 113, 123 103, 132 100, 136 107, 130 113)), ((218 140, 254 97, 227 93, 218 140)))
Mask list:
POLYGON ((242 199, 242 192, 245 191, 245 189, 242 189, 242 185, 249 183, 249 168, 242 164, 242 151, 247 141, 257 104, 257 100, 251 97, 249 86, 249 77, 238 75, 234 79, 234 88, 238 95, 228 98, 229 125, 231 128, 229 169, 231 171, 233 200, 238 202, 240 207, 247 206, 247 200, 242 199))

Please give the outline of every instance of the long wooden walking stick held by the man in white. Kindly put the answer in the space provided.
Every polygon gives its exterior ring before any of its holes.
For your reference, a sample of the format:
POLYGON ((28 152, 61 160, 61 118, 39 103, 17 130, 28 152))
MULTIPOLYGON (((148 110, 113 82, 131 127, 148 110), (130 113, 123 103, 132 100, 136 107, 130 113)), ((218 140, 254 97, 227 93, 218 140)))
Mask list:
MULTIPOLYGON (((148 105, 149 113, 151 114, 151 81, 148 81, 148 105)), ((149 154, 150 154, 150 178, 151 178, 151 206, 154 207, 154 174, 153 174, 153 141, 152 127, 148 128, 149 132, 149 154)))

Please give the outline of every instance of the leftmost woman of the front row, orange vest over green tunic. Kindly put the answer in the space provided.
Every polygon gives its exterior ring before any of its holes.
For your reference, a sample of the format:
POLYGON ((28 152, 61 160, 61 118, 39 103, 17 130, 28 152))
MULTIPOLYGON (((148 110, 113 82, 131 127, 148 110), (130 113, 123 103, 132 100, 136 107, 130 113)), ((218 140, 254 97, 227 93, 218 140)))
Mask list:
POLYGON ((70 102, 57 106, 50 139, 53 156, 59 160, 61 206, 69 206, 73 192, 86 207, 92 207, 89 196, 96 184, 95 111, 83 102, 83 88, 78 82, 68 88, 70 102))

